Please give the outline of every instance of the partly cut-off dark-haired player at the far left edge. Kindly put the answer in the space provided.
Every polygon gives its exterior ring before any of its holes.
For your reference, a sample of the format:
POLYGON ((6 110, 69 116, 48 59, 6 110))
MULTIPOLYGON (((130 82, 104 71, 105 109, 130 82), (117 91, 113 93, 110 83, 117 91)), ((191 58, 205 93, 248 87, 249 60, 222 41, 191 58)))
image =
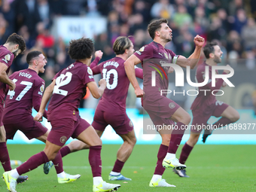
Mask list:
MULTIPOLYGON (((14 58, 25 50, 26 43, 23 37, 16 33, 10 35, 5 44, 0 46, 0 161, 5 172, 11 171, 10 157, 6 147, 5 127, 2 123, 6 94, 5 87, 6 84, 8 84, 10 90, 15 89, 15 84, 8 78, 8 73, 14 58)), ((17 179, 17 182, 20 183, 26 181, 27 178, 27 176, 20 176, 17 179)))

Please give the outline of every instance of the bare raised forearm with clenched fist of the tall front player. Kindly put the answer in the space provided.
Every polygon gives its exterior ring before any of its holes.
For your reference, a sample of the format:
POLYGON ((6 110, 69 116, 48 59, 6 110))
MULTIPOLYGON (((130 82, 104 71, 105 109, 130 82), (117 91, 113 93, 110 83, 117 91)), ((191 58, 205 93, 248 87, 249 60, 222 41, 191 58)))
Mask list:
POLYGON ((200 59, 201 50, 203 47, 203 44, 205 43, 205 39, 200 37, 200 35, 197 35, 194 38, 194 43, 196 44, 196 48, 194 50, 194 53, 192 53, 188 58, 184 56, 178 56, 176 64, 178 66, 186 68, 186 66, 190 66, 190 69, 194 69, 195 66, 197 66, 197 62, 200 59))

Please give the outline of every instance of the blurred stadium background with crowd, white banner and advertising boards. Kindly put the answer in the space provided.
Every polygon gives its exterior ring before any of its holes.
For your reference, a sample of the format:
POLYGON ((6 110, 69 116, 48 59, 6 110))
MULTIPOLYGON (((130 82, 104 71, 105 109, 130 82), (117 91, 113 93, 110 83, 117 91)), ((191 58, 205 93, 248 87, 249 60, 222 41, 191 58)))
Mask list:
MULTIPOLYGON (((173 41, 166 48, 177 54, 189 56, 194 51, 193 38, 197 34, 206 38, 206 41, 218 41, 224 52, 222 65, 229 64, 233 67, 235 75, 230 80, 236 86, 225 87, 225 94, 219 99, 239 110, 241 119, 238 123, 256 122, 254 0, 2 0, 0 4, 0 44, 5 43, 8 35, 17 32, 26 40, 26 53, 29 50, 41 50, 47 56, 46 70, 41 74, 47 85, 56 72, 72 63, 67 54, 67 45, 73 38, 93 38, 95 50, 102 50, 104 53, 101 61, 114 56, 111 47, 117 36, 132 35, 135 50, 150 43, 152 40, 147 26, 156 18, 169 20, 173 41)), ((12 72, 27 68, 26 53, 14 59, 12 72)), ((202 60, 203 58, 202 55, 202 60)), ((191 74, 192 80, 194 72, 191 74)), ((98 81, 99 78, 100 75, 95 80, 98 81)), ((170 90, 175 89, 174 78, 175 75, 169 75, 170 90)), ((194 100, 193 96, 169 94, 169 97, 187 111, 194 100)), ((81 116, 90 123, 97 102, 90 93, 81 102, 81 116)), ((138 143, 160 143, 157 134, 142 134, 142 108, 133 87, 130 87, 126 104, 127 112, 135 125, 138 143)), ((46 120, 44 124, 50 129, 46 120)), ((254 136, 214 134, 208 143, 256 144, 254 136)), ((186 141, 187 138, 186 134, 183 140, 186 141)), ((105 143, 121 142, 109 127, 102 140, 105 143)), ((29 142, 19 133, 14 142, 8 143, 37 142, 29 142)))

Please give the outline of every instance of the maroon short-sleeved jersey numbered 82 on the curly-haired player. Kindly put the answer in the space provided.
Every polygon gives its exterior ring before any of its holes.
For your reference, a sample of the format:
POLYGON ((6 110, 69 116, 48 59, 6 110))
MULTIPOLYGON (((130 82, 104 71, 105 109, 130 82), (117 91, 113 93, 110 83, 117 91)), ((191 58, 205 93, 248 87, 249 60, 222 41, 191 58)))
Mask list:
POLYGON ((86 93, 87 83, 94 81, 93 72, 82 62, 72 63, 53 78, 56 83, 47 111, 47 119, 78 118, 78 106, 86 93))

